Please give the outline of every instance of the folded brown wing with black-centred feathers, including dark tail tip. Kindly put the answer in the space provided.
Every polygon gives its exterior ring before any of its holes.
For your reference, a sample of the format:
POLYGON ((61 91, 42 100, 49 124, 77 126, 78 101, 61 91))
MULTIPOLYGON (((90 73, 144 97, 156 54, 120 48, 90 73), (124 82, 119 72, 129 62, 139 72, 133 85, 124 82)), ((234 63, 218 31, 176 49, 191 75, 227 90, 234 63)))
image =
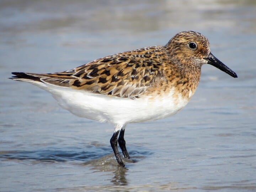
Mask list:
POLYGON ((97 94, 136 98, 163 78, 161 54, 164 54, 161 46, 147 47, 109 55, 60 73, 23 73, 23 77, 13 73, 16 76, 12 79, 37 80, 97 94))

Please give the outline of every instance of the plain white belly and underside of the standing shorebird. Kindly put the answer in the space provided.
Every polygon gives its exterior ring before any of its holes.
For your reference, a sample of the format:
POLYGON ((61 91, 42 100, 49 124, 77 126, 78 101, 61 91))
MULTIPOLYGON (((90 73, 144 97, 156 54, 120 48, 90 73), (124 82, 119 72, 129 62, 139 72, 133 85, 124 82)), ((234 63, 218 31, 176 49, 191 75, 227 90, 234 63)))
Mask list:
POLYGON ((154 98, 144 96, 130 99, 68 87, 42 84, 37 86, 50 92, 61 107, 76 116, 119 125, 162 119, 177 113, 188 103, 188 99, 184 99, 181 95, 174 97, 174 89, 154 98))

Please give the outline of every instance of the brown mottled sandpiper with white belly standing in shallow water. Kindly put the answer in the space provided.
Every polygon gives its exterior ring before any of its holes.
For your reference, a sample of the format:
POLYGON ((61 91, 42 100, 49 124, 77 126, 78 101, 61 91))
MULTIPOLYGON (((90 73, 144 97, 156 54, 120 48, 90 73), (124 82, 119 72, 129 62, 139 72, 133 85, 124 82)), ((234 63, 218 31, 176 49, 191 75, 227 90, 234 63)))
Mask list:
POLYGON ((10 79, 48 91, 76 116, 113 124, 110 144, 118 164, 124 167, 117 144, 124 158, 130 159, 124 140, 126 125, 180 111, 196 91, 203 64, 238 77, 210 52, 204 35, 182 31, 165 46, 108 55, 58 73, 13 72, 10 79))

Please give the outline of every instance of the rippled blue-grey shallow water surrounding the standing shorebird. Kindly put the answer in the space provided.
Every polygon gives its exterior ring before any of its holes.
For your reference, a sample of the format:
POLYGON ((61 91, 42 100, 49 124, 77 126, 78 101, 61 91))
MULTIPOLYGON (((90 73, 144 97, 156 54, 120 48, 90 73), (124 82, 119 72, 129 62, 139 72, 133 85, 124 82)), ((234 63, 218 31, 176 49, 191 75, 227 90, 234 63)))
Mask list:
POLYGON ((1 1, 0 191, 256 191, 255 1, 1 1), (203 66, 175 116, 129 124, 117 166, 113 126, 75 117, 7 79, 205 34, 237 79, 203 66))

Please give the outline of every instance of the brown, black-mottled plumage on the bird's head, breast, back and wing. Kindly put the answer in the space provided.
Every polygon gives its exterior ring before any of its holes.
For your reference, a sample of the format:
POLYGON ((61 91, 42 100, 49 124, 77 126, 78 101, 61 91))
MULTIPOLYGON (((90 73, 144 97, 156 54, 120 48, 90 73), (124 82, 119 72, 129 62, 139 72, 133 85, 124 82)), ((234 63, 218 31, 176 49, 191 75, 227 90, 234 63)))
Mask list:
MULTIPOLYGON (((185 59, 190 58, 194 51, 188 52, 187 47, 183 46, 183 43, 192 40, 191 35, 184 33, 183 38, 178 34, 165 46, 145 47, 109 55, 60 73, 26 74, 37 76, 38 80, 50 84, 115 97, 134 98, 147 92, 161 93, 170 86, 177 87, 178 91, 186 95, 189 89, 193 92, 196 89, 201 65, 186 63, 185 59), (183 73, 186 71, 189 73, 183 73)), ((208 40, 202 35, 198 38, 198 34, 193 37, 194 42, 198 43, 198 49, 193 54, 196 57, 206 57, 209 54, 209 50, 205 49, 209 48, 208 40)))

